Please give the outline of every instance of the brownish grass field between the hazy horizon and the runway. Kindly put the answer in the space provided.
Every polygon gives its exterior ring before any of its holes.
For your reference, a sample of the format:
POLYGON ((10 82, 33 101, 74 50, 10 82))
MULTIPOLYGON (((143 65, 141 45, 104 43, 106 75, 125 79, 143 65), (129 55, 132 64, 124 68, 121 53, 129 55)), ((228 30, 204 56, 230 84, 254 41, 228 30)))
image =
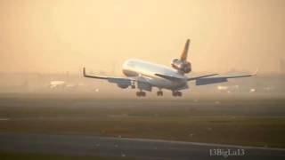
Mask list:
POLYGON ((9 94, 0 131, 84 134, 285 148, 285 101, 278 98, 94 99, 9 94))

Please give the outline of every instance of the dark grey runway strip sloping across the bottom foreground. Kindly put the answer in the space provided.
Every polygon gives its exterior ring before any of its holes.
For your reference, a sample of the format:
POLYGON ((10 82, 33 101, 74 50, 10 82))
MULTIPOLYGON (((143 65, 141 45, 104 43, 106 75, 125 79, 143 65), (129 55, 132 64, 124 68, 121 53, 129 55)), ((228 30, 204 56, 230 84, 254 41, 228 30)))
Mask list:
POLYGON ((0 133, 0 150, 71 156, 126 156, 135 159, 284 159, 283 148, 255 148, 171 140, 145 140, 83 135, 0 133), (213 155, 215 150, 244 154, 213 155))

